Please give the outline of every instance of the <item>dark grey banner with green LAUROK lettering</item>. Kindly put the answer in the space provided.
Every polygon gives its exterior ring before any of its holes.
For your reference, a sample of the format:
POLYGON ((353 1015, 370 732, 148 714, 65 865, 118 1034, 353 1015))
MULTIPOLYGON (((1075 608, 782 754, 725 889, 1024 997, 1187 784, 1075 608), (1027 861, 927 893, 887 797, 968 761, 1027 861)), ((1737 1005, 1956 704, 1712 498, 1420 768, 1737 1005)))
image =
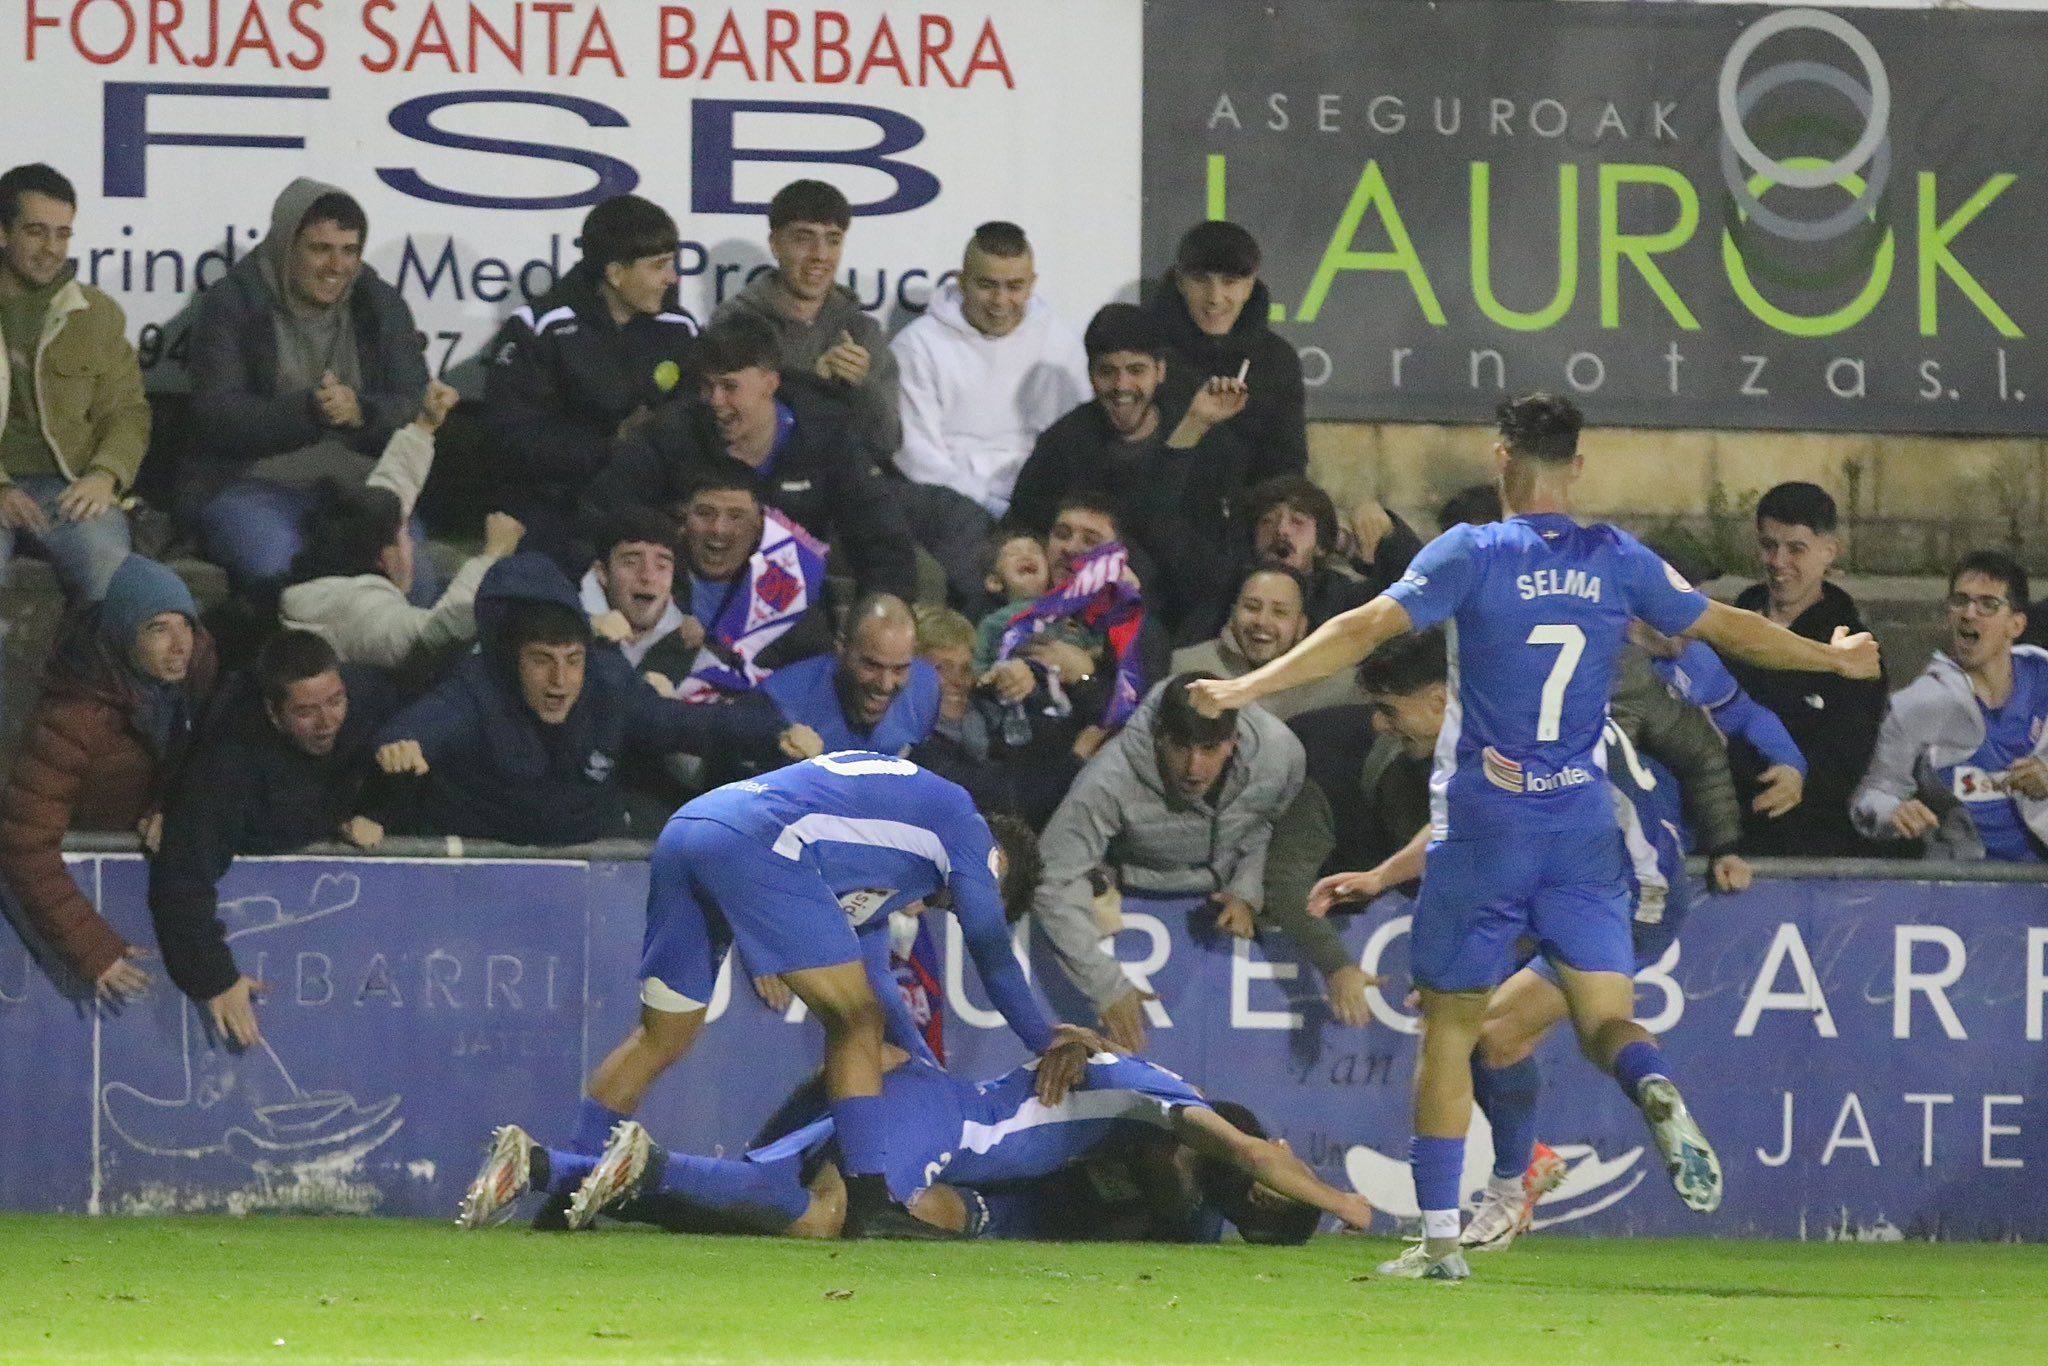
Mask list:
POLYGON ((1311 416, 2040 432, 2048 14, 1145 12, 1145 260, 1260 238, 1311 416))

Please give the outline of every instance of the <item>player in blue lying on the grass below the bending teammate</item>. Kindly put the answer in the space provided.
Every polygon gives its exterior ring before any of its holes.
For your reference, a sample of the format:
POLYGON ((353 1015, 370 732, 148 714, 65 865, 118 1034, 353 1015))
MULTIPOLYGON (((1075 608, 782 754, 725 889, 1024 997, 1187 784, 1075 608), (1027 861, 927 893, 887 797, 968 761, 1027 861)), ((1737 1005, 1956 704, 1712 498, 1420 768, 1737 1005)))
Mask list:
MULTIPOLYGON (((1323 1210, 1354 1229, 1372 1221, 1364 1196, 1321 1182, 1247 1110, 1219 1110, 1153 1063, 1098 1055, 1081 1085, 1047 1106, 1034 1065, 977 1085, 895 1049, 891 1059, 899 1065, 881 1090, 889 1194, 936 1231, 1032 1237, 1071 1227, 1073 1210, 1051 1206, 1087 1202, 1090 1192, 1044 1182, 1096 1159, 1130 1163, 1149 1198, 1143 1219, 1122 1227, 1161 1241, 1212 1241, 1219 1216, 1266 1243, 1307 1241, 1323 1210)), ((477 1184, 573 1190, 569 1227, 608 1212, 690 1233, 840 1237, 848 1198, 834 1118, 813 1108, 807 1122, 795 1120, 805 1120, 801 1108, 788 1133, 737 1161, 668 1153, 631 1120, 596 1159, 508 1128, 477 1184)))

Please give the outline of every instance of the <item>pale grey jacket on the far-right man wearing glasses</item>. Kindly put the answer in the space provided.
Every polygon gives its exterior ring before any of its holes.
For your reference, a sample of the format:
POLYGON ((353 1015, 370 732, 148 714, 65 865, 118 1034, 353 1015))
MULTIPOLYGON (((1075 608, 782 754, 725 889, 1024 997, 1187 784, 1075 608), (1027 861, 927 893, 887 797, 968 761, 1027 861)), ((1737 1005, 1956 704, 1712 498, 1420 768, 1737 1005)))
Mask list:
MULTIPOLYGON (((2048 649, 2013 647, 2013 672, 2048 668, 2048 649)), ((1927 672, 1892 694, 1878 727, 1878 748, 1870 770, 1849 799, 1855 829, 1874 840, 1892 838, 1892 813, 1919 797, 1942 825, 1921 836, 1927 858, 1985 858, 1970 807, 1942 780, 1942 770, 1962 764, 1985 743, 1985 713, 1976 705, 1970 676, 1944 653, 1927 661, 1927 672)), ((2048 758, 2048 731, 2034 741, 2034 756, 2048 758)), ((2036 840, 2048 840, 2048 801, 2011 795, 2019 819, 2036 840)))

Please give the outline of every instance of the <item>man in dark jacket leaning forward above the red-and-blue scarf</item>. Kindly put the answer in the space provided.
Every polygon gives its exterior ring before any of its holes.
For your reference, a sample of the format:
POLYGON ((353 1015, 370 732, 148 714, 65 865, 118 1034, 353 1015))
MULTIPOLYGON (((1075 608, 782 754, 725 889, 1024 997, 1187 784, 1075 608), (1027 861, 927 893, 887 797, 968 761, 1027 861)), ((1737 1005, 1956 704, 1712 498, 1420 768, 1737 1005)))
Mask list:
POLYGON ((737 461, 754 492, 846 557, 858 592, 918 592, 918 555, 903 510, 848 430, 846 412, 776 371, 776 338, 737 313, 698 340, 698 397, 666 405, 598 475, 584 516, 600 526, 618 508, 672 508, 711 471, 737 461))

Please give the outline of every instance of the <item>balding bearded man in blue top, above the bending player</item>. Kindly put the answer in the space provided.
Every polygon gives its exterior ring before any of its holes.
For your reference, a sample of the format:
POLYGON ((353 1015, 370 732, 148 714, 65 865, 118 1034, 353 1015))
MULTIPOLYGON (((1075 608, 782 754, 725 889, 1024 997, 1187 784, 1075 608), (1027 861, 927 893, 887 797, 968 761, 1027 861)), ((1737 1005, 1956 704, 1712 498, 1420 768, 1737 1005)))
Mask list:
POLYGON ((938 723, 938 672, 918 657, 918 621, 901 598, 874 594, 854 606, 838 651, 788 664, 762 684, 791 725, 825 750, 909 754, 938 723))

